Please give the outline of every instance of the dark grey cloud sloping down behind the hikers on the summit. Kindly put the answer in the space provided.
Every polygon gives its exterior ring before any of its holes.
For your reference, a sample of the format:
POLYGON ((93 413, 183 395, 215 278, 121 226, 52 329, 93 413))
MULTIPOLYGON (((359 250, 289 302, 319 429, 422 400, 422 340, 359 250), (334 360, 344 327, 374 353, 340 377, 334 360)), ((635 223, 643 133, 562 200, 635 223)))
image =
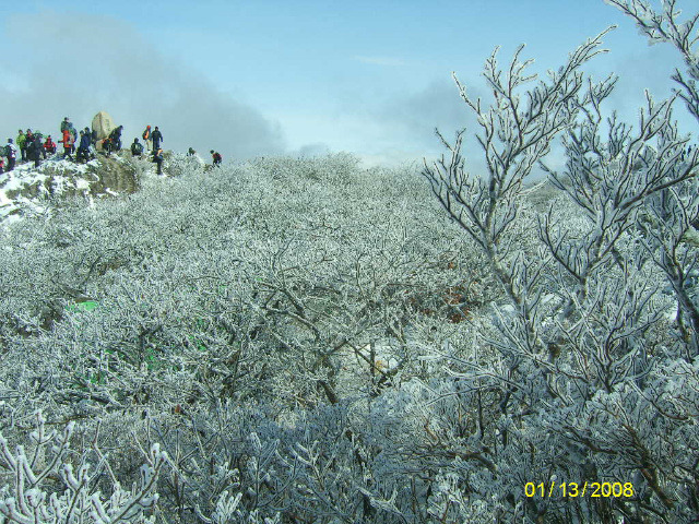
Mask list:
MULTIPOLYGON (((12 15, 7 37, 20 49, 16 86, 0 85, 3 131, 35 127, 58 134, 70 116, 78 127, 106 110, 125 126, 125 139, 159 126, 164 145, 220 151, 224 158, 279 154, 279 126, 216 88, 194 68, 159 52, 132 26, 86 14, 12 15)), ((222 64, 222 67, 226 67, 222 64)))

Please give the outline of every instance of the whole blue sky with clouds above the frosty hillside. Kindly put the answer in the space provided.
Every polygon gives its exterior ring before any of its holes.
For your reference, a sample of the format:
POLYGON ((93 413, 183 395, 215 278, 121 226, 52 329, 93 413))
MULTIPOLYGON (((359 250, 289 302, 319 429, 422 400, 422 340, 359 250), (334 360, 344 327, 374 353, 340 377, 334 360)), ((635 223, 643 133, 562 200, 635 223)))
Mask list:
MULTIPOLYGON (((687 5, 689 2, 685 2, 687 5)), ((159 124, 168 148, 225 159, 347 151, 367 165, 441 154, 434 128, 470 126, 451 80, 475 94, 495 46, 520 43, 533 68, 558 68, 612 24, 612 52, 588 68, 620 75, 611 104, 633 121, 643 88, 670 94, 682 66, 649 47, 602 0, 12 2, 0 43, 16 59, 0 81, 0 130, 58 133, 100 109, 131 141, 159 124)), ((609 106, 611 107, 611 106, 609 106)), ((696 126, 677 107, 683 129, 696 126)), ((477 152, 476 152, 477 156, 477 152)))

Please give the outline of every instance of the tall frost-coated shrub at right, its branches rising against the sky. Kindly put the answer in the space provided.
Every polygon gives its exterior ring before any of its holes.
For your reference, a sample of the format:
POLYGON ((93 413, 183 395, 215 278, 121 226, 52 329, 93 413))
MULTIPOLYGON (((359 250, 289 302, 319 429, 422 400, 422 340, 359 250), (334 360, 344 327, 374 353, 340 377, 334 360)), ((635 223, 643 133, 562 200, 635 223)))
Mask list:
MULTIPOLYGON (((661 14, 640 1, 611 3, 652 38, 675 43, 697 79, 697 16, 680 24, 675 2, 664 2, 661 14)), ((695 84, 677 72, 684 91, 661 102, 647 95, 636 127, 605 118, 615 79, 594 83, 579 71, 603 52, 603 35, 529 88, 534 78, 521 48, 505 70, 493 55, 484 71, 495 95, 489 107, 457 80, 477 117, 487 171, 467 171, 463 132, 453 144, 439 135, 450 157, 423 171, 510 303, 495 307, 498 333, 484 347, 469 358, 445 352, 459 380, 440 383, 431 401, 443 406, 433 410, 434 445, 454 456, 440 468, 438 514, 609 523, 694 522, 699 514, 697 246, 686 238, 698 216, 699 160, 672 120, 677 96, 696 107, 695 84), (543 162, 557 135, 568 157, 562 172, 543 162), (532 249, 516 231, 537 163, 574 207, 552 205, 536 217, 532 249), (488 350, 497 358, 484 358, 488 350), (461 410, 471 419, 463 429, 454 415, 461 410), (594 481, 632 486, 632 493, 562 495, 564 484, 582 490, 594 481), (528 497, 528 483, 543 483, 545 495, 540 488, 528 497)))

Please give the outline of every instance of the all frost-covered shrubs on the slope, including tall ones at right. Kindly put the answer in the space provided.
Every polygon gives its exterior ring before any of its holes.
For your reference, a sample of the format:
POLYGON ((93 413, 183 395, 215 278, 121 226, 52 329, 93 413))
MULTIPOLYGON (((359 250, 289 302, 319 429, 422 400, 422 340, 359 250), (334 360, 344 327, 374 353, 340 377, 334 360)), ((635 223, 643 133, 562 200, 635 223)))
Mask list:
POLYGON ((424 177, 127 155, 138 192, 2 228, 2 522, 696 521, 696 29, 612 3, 688 64, 633 126, 601 35, 457 82, 485 172, 465 131, 424 177))

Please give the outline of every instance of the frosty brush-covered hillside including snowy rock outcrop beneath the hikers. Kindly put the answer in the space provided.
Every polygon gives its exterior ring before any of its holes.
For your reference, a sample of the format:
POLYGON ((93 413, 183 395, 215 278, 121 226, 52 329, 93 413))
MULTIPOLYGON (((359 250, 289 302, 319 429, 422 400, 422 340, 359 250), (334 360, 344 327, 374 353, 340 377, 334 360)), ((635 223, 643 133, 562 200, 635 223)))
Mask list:
MULTIPOLYGON (((508 299, 424 177, 360 169, 351 155, 206 170, 171 154, 163 177, 129 156, 56 160, 23 166, 2 190, 14 211, 1 231, 0 451, 35 472, 16 444, 55 457, 42 489, 67 508, 86 489, 67 468, 90 463, 85 486, 145 513, 157 492, 162 522, 218 522, 221 504, 256 524, 487 522, 521 514, 508 493, 525 497, 544 468, 562 478, 583 464, 592 478, 631 481, 624 427, 651 431, 657 418, 629 425, 628 413, 652 415, 638 412, 629 367, 652 356, 652 388, 699 391, 677 357, 676 302, 643 288, 639 309, 624 309, 636 302, 616 301, 627 276, 613 259, 567 327, 576 337, 546 353, 518 338, 530 311, 535 335, 568 333, 558 319, 571 281, 542 248, 543 221, 570 242, 596 230, 548 183, 517 198, 501 237, 512 267, 542 275, 526 290, 532 310, 508 299), (614 342, 629 319, 642 331, 614 342), (619 451, 590 450, 591 438, 619 451)), ((635 242, 624 237, 618 255, 635 257, 635 242)), ((627 275, 663 277, 653 264, 627 275)), ((665 443, 694 424, 691 404, 673 398, 663 396, 677 413, 665 443)), ((16 475, 0 471, 3 500, 16 475)))

